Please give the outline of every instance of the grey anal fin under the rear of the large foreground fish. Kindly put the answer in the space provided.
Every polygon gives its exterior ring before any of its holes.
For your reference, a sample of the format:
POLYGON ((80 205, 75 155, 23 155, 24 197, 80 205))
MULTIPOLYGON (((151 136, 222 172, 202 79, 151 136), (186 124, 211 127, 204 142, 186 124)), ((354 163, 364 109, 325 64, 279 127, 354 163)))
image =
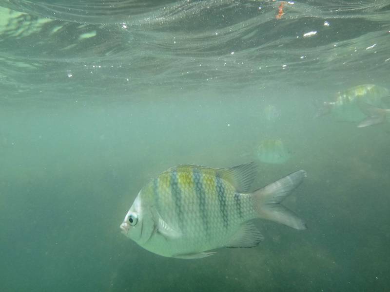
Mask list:
POLYGON ((264 240, 263 235, 260 231, 254 226, 252 222, 246 222, 241 224, 240 228, 230 239, 230 241, 225 245, 228 248, 241 248, 241 247, 255 247, 262 240, 264 240))

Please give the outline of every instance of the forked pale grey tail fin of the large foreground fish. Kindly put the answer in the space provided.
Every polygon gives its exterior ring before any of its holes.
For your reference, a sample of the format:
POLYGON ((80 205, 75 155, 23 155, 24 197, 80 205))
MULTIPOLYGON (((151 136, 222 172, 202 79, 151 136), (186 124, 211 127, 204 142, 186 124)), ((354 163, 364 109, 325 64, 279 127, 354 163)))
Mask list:
POLYGON ((303 182, 306 176, 306 171, 298 170, 254 191, 257 217, 272 220, 295 229, 306 229, 306 223, 302 219, 280 204, 303 182))

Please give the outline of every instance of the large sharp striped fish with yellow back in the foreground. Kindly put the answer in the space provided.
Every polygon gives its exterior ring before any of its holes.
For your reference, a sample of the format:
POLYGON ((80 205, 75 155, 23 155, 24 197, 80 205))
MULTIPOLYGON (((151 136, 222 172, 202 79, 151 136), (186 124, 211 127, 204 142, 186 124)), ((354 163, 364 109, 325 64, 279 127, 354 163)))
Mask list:
POLYGON ((280 204, 303 182, 306 171, 251 192, 256 176, 253 162, 230 168, 171 167, 139 191, 121 232, 157 255, 195 259, 219 248, 257 246, 264 237, 252 219, 306 229, 303 219, 280 204))

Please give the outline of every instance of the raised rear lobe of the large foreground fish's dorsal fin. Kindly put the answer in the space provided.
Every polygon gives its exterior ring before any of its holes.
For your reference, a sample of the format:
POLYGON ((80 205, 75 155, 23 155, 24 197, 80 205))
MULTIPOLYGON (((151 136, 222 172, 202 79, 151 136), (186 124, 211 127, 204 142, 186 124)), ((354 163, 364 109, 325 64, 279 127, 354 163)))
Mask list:
POLYGON ((240 164, 231 168, 218 169, 218 175, 233 184, 237 192, 247 193, 257 175, 257 165, 254 162, 240 164))

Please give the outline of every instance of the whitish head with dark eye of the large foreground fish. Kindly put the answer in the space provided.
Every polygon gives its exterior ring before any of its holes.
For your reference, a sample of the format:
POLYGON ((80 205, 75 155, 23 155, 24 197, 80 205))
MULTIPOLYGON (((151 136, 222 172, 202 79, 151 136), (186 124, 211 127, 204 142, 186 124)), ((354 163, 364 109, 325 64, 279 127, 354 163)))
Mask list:
POLYGON ((141 194, 142 191, 138 193, 136 200, 134 200, 122 224, 120 224, 121 233, 140 245, 144 241, 143 236, 147 234, 147 230, 153 229, 154 226, 151 216, 148 216, 150 213, 149 208, 141 200, 141 194))

